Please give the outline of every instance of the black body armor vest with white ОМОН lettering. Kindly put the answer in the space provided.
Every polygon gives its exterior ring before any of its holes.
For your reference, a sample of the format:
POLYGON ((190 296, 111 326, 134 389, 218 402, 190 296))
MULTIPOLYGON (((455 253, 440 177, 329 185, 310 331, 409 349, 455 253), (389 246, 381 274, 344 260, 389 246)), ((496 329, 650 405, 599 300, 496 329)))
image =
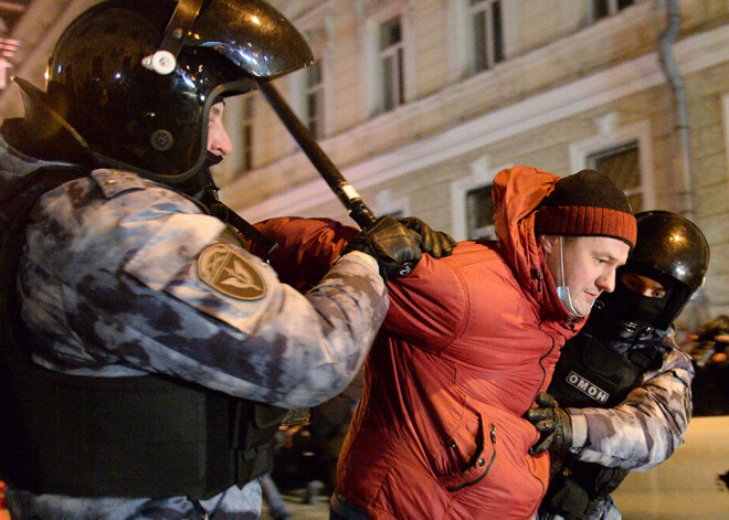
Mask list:
MULTIPOLYGON (((583 332, 562 348, 548 392, 562 407, 613 407, 662 361, 663 353, 655 347, 632 349, 624 355, 583 332)), ((549 489, 540 510, 566 520, 589 519, 627 476, 626 470, 583 463, 569 454, 551 456, 549 489)))

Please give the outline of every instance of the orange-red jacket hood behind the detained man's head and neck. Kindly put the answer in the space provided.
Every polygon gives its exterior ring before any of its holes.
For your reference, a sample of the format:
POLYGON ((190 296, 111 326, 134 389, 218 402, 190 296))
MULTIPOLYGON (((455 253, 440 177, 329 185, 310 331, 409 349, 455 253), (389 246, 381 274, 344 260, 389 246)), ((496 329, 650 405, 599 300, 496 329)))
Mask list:
POLYGON ((545 252, 535 234, 536 209, 554 189, 559 176, 531 167, 501 170, 494 178, 494 223, 501 256, 514 269, 525 294, 543 315, 568 319, 570 314, 557 295, 545 252))

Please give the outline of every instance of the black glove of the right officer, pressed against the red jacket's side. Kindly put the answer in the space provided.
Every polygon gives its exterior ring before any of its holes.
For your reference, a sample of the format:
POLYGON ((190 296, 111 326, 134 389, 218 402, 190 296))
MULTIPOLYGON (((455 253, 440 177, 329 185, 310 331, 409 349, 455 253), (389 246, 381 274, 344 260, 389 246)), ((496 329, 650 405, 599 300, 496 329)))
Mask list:
POLYGON ((546 392, 537 395, 536 408, 527 410, 524 415, 541 433, 541 438, 529 448, 529 454, 538 455, 549 448, 568 449, 572 447, 572 422, 570 414, 561 408, 554 397, 546 392))

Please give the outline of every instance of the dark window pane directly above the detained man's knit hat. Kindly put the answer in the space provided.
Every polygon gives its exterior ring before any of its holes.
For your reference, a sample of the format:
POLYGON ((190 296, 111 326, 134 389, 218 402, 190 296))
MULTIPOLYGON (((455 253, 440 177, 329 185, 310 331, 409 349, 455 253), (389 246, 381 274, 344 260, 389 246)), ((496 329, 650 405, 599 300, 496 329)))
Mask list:
POLYGON ((610 176, 625 192, 633 212, 643 211, 645 208, 640 159, 637 141, 588 156, 590 168, 610 176))

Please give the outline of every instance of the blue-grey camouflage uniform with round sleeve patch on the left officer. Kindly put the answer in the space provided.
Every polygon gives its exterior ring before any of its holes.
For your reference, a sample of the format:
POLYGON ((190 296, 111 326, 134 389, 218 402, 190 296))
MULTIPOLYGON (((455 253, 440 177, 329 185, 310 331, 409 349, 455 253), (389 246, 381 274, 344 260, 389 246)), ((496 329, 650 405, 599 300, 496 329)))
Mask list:
MULTIPOLYGON (((19 157, 3 146, 0 165, 14 174, 36 168, 19 157)), ((43 195, 31 213, 19 289, 33 359, 45 368, 163 373, 288 408, 347 386, 388 308, 373 258, 342 256, 304 296, 192 200, 116 170, 43 195)), ((13 518, 222 520, 261 510, 257 481, 197 503, 13 489, 7 498, 13 518)))

